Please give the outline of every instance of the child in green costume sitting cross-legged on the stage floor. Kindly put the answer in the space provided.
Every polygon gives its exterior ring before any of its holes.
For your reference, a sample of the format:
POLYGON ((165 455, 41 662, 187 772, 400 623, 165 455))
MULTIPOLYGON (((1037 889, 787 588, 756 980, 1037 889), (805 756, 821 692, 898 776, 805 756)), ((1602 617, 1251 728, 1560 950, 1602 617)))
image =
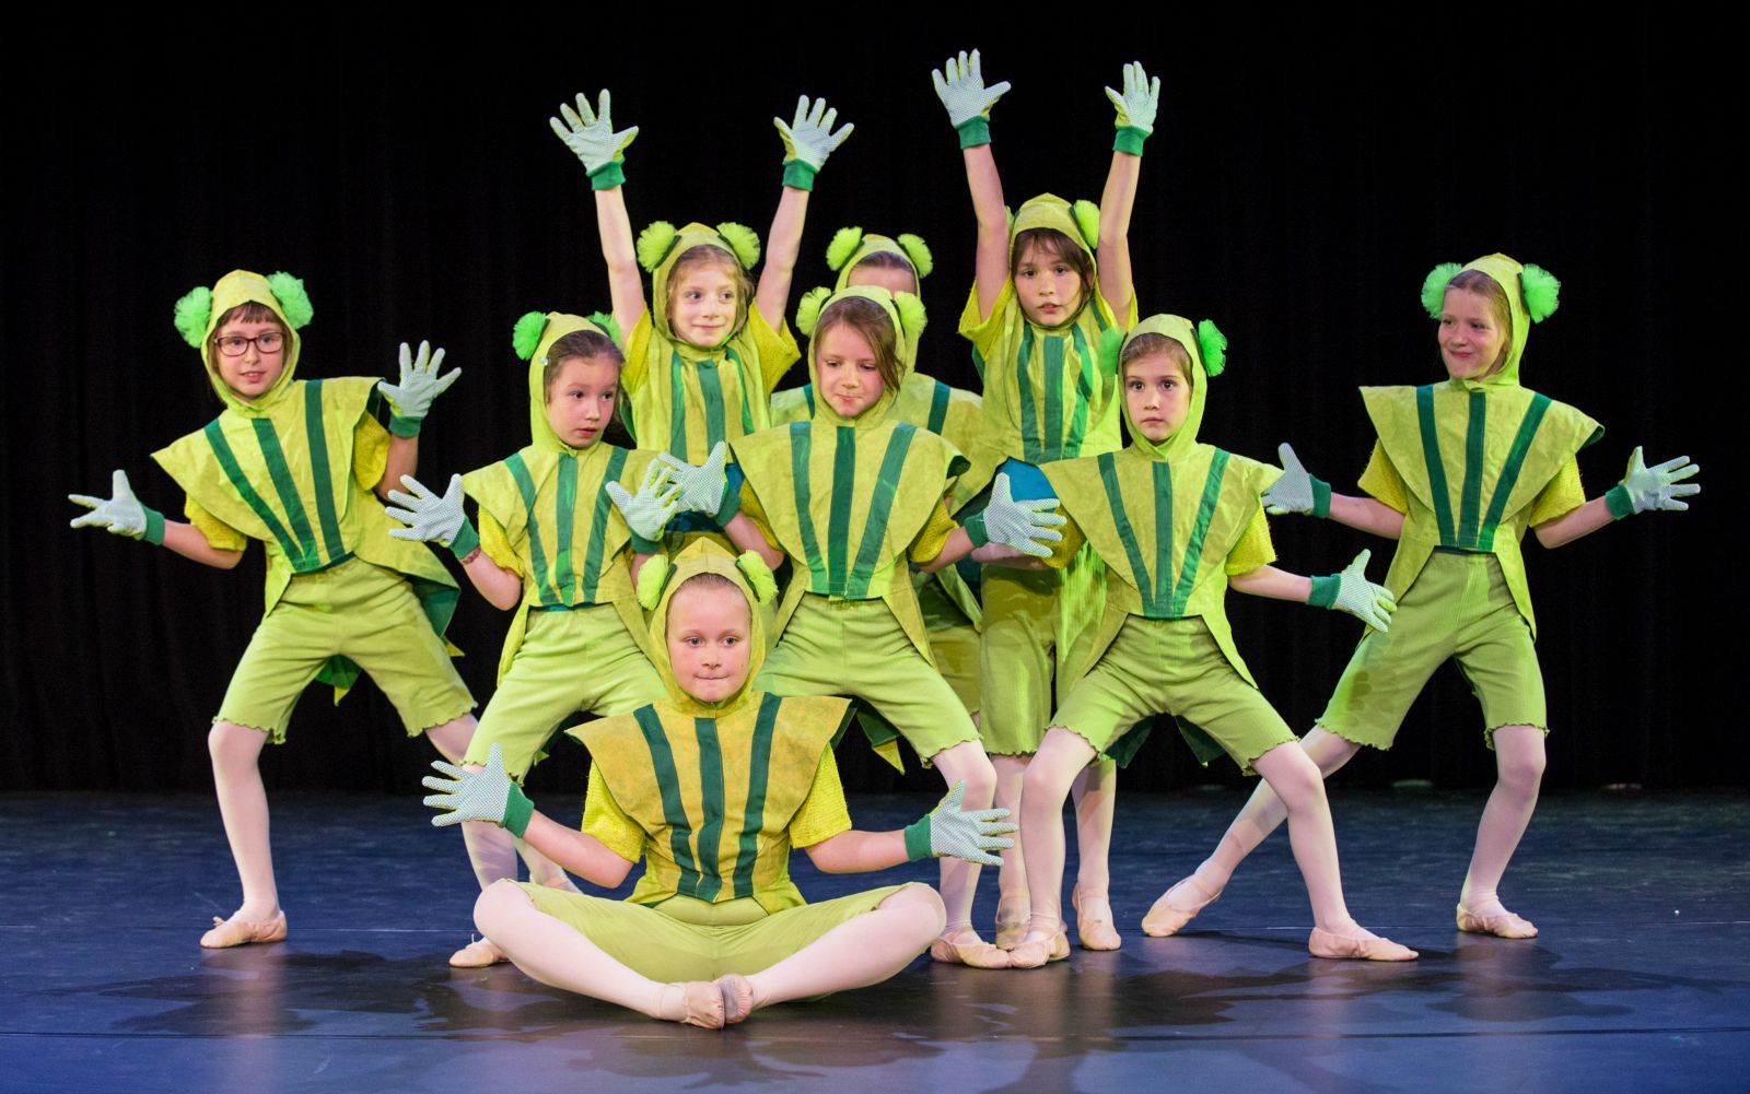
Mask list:
POLYGON ((992 860, 999 811, 961 813, 959 788, 901 832, 850 828, 833 737, 845 699, 765 694, 752 683, 766 643, 756 599, 772 573, 695 542, 667 571, 653 559, 640 594, 667 696, 572 734, 593 758, 583 830, 534 813, 504 774, 436 764, 432 823, 492 820, 602 886, 644 860, 630 900, 500 883, 474 909, 481 931, 530 977, 656 1019, 721 1028, 752 1010, 878 984, 942 928, 920 884, 803 904, 789 849, 831 874, 880 870, 929 855, 992 860), (660 592, 660 599, 656 594, 660 592))

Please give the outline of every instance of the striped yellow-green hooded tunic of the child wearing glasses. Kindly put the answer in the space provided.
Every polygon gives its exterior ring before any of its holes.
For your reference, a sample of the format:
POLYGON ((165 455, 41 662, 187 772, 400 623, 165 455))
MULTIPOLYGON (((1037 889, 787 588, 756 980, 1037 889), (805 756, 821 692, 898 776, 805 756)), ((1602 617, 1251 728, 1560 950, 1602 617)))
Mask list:
MULTIPOLYGON (((455 580, 424 544, 388 537, 396 524, 352 474, 354 432, 373 411, 376 381, 296 379, 299 346, 266 278, 247 271, 220 278, 212 294, 201 357, 226 409, 206 428, 152 458, 201 510, 262 542, 268 552, 262 617, 273 612, 298 575, 357 556, 402 575, 441 636, 458 599, 455 580), (270 308, 287 332, 285 370, 254 402, 238 398, 219 377, 212 344, 219 318, 247 302, 270 308)), ((338 697, 357 676, 352 661, 334 657, 318 680, 332 683, 338 697)))

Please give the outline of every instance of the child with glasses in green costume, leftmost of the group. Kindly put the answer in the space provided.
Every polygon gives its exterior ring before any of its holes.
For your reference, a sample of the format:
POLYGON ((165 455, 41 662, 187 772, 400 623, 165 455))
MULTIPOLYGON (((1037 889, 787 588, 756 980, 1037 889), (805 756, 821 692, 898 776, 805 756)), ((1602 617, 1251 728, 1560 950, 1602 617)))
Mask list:
MULTIPOLYGON (((296 379, 310 322, 303 283, 285 273, 233 271, 177 301, 177 330, 201 351, 224 411, 205 430, 152 454, 187 493, 189 521, 142 505, 116 472, 108 500, 75 495, 93 512, 74 526, 161 544, 229 570, 250 540, 268 552, 268 606, 243 652, 206 737, 226 839, 243 904, 214 919, 201 945, 285 937, 268 842, 268 793, 257 758, 285 739, 292 704, 312 678, 345 694, 362 668, 401 713, 408 736, 425 734, 460 758, 474 732, 467 687, 450 664, 443 629, 455 582, 425 547, 388 538, 371 491, 415 468, 425 412, 460 370, 439 376, 443 350, 418 358, 401 346, 401 383, 364 377, 296 379), (388 432, 376 395, 388 398, 388 432)), ((502 834, 464 832, 481 886, 514 851, 502 834)))

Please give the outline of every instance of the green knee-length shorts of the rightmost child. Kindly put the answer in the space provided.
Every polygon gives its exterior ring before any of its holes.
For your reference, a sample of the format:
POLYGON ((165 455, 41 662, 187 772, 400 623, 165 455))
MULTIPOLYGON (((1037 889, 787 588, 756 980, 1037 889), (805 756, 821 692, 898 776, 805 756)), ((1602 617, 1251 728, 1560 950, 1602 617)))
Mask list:
POLYGON ((1368 631, 1318 724, 1344 741, 1391 748, 1410 703, 1447 659, 1482 703, 1484 741, 1503 725, 1549 732, 1531 627, 1493 554, 1435 550, 1404 592, 1391 629, 1368 631))

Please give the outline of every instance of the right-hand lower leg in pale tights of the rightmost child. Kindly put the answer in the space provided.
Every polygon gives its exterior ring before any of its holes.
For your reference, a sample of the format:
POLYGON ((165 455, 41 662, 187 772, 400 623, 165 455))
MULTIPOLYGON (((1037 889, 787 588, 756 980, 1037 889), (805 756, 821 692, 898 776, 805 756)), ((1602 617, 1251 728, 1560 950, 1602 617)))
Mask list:
POLYGON ((1544 781, 1544 730, 1535 725, 1496 729, 1494 765, 1494 792, 1482 807, 1477 849, 1458 897, 1458 926, 1503 938, 1533 938, 1536 928, 1502 907, 1496 890, 1536 807, 1538 785, 1544 781))

